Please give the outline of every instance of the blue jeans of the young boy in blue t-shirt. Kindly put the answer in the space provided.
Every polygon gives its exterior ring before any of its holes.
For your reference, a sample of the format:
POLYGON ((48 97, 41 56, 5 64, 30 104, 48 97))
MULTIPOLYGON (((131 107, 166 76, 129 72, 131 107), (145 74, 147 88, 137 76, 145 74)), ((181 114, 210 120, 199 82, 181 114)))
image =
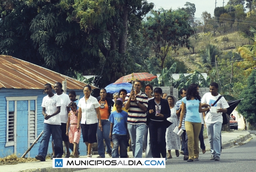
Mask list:
POLYGON ((112 149, 112 158, 119 158, 118 149, 120 146, 120 158, 127 158, 127 135, 113 135, 112 140, 114 143, 112 149))

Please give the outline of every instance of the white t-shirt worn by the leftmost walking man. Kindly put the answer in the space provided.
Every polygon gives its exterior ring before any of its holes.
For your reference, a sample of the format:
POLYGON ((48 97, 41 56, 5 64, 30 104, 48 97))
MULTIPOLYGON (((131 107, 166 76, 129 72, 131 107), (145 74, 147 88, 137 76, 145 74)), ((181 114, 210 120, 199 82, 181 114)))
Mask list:
MULTIPOLYGON (((47 95, 43 98, 42 107, 45 107, 46 113, 48 115, 52 115, 54 112, 56 112, 57 107, 59 106, 61 106, 61 100, 58 95, 53 95, 52 97, 47 95)), ((44 123, 61 125, 60 114, 57 114, 48 120, 44 120, 44 123)))

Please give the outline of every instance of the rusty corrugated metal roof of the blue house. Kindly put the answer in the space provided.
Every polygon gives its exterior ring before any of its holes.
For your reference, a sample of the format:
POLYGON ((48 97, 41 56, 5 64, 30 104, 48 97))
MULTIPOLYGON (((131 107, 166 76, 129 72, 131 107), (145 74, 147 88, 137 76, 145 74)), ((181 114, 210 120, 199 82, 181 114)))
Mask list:
POLYGON ((62 83, 65 79, 67 79, 67 89, 83 89, 87 85, 87 83, 15 57, 0 55, 0 88, 44 89, 46 83, 53 86, 54 83, 62 83))

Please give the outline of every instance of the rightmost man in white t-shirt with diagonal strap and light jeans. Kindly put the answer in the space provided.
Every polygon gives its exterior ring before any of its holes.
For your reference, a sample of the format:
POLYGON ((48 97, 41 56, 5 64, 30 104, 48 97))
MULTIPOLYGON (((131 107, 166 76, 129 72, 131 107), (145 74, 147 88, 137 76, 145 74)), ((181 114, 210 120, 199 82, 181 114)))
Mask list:
MULTIPOLYGON (((207 103, 212 106, 215 101, 221 95, 218 94, 218 83, 210 84, 210 92, 204 94, 202 97, 201 103, 207 103)), ((221 156, 221 126, 223 122, 222 113, 227 112, 229 107, 227 101, 224 97, 221 97, 220 100, 214 105, 217 107, 217 113, 213 112, 213 108, 210 109, 204 118, 205 124, 207 126, 207 134, 210 142, 212 156, 210 160, 219 161, 221 156), (212 112, 212 113, 211 113, 212 112)))

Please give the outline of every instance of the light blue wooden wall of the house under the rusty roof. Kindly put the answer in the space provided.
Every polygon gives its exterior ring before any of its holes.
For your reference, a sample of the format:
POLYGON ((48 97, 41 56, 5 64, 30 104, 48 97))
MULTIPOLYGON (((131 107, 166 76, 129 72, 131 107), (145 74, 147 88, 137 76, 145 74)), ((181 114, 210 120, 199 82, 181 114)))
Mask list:
MULTIPOLYGON (((67 93, 70 90, 67 90, 67 93)), ((80 98, 84 96, 83 91, 82 90, 75 90, 76 91, 76 95, 80 95, 80 98)), ((43 89, 41 90, 36 90, 36 89, 5 89, 2 88, 0 89, 0 157, 4 157, 7 155, 11 155, 15 152, 16 149, 16 154, 17 156, 21 156, 24 153, 24 150, 26 151, 26 149, 28 149, 28 142, 27 140, 23 139, 24 136, 28 135, 28 113, 23 113, 23 112, 28 112, 29 110, 35 110, 35 106, 33 108, 33 106, 31 106, 30 109, 28 109, 28 104, 26 103, 26 101, 17 101, 17 111, 19 110, 23 110, 23 111, 19 111, 19 113, 17 113, 17 121, 16 126, 14 127, 17 135, 16 135, 16 141, 18 141, 17 143, 15 143, 15 146, 6 146, 6 129, 7 129, 7 101, 6 101, 6 97, 20 97, 20 96, 38 96, 37 97, 37 105, 36 105, 36 114, 37 114, 37 132, 36 132, 36 138, 38 137, 38 135, 40 135, 40 133, 43 131, 44 128, 44 116, 42 115, 42 100, 43 97, 46 96, 46 94, 43 94, 43 89), (18 130, 18 131, 17 131, 18 130), (23 137, 23 138, 22 138, 23 137), (26 143, 25 143, 26 142, 26 143)), ((35 101, 34 101, 35 102, 35 101)), ((14 109, 14 106, 12 106, 12 104, 14 104, 14 101, 9 101, 9 110, 14 109)), ((82 140, 82 136, 81 136, 81 143, 80 143, 80 149, 79 151, 81 152, 81 155, 86 155, 86 146, 82 140)), ((36 143, 34 145, 34 147, 31 149, 31 151, 29 152, 28 155, 26 155, 26 157, 35 157, 35 155, 38 155, 38 147, 39 147, 39 143, 41 142, 41 139, 38 140, 38 143, 36 143)), ((50 140, 51 142, 51 140, 50 140)), ((52 153, 52 145, 49 142, 49 148, 48 148, 48 153, 52 153)), ((30 143, 31 145, 32 143, 30 143)))

